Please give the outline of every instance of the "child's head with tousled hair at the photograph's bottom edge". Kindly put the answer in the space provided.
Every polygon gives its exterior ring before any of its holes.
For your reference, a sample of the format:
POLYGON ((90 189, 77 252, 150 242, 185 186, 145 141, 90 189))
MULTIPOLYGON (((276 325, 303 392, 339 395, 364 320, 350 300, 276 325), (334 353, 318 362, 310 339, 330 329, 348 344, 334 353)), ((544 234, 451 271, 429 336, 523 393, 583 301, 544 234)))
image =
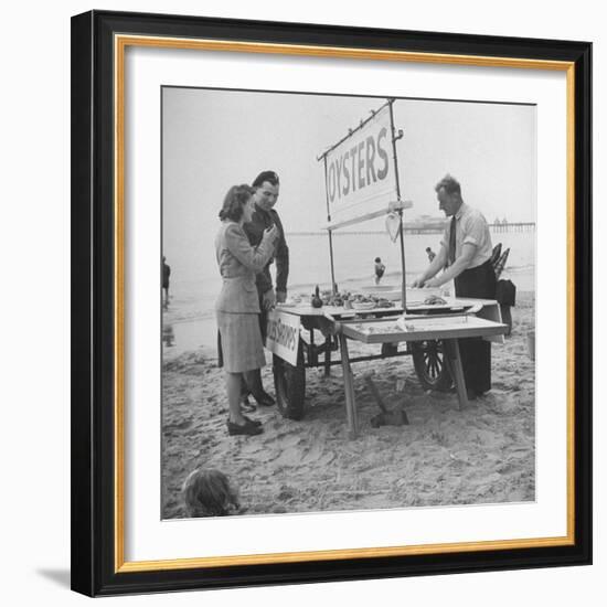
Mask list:
POLYGON ((190 472, 181 494, 189 517, 225 517, 239 509, 237 491, 223 472, 212 468, 190 472))

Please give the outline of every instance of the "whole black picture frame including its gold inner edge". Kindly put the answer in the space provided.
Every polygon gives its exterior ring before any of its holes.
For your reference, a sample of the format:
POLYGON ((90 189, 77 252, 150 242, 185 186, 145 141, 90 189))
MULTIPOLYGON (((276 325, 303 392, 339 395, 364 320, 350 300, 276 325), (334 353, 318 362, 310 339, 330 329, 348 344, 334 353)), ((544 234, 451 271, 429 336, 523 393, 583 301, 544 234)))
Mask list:
MULTIPOLYGON (((88 596, 592 563, 592 45, 587 42, 92 11, 72 19, 72 588, 88 596), (566 533, 130 561, 125 53, 406 62, 565 74, 566 533)), ((156 508, 151 505, 150 508, 156 508)), ((225 521, 230 524, 230 521, 225 521)), ((225 528, 228 529, 228 528, 225 528)))

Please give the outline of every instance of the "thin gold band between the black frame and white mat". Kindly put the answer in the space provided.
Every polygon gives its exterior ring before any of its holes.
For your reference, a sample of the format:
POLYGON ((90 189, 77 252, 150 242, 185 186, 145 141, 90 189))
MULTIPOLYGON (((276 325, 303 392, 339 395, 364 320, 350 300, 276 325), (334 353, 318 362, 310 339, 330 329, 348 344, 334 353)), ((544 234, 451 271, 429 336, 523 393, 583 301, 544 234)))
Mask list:
POLYGON ((379 51, 348 47, 327 47, 298 44, 249 43, 222 40, 192 40, 179 38, 121 35, 114 36, 115 79, 115 573, 171 571, 216 566, 300 563, 380 556, 423 555, 456 552, 480 552, 530 547, 567 546, 575 544, 575 64, 567 61, 541 61, 513 57, 449 55, 404 51, 379 51), (255 555, 178 558, 167 561, 125 561, 124 458, 125 458, 125 53, 129 46, 265 53, 316 57, 382 60, 394 62, 470 65, 482 67, 515 67, 566 73, 567 104, 567 534, 556 537, 497 540, 416 546, 324 550, 255 555))

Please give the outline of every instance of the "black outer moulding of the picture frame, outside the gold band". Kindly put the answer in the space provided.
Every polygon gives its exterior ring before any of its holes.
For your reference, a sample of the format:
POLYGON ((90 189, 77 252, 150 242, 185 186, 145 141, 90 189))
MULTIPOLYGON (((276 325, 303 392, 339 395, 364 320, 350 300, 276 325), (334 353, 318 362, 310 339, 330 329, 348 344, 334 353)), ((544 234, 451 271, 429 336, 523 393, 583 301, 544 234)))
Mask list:
POLYGON ((72 19, 72 588, 90 596, 592 563, 592 44, 93 11, 72 19), (575 543, 203 569, 114 572, 114 34, 575 64, 575 543))

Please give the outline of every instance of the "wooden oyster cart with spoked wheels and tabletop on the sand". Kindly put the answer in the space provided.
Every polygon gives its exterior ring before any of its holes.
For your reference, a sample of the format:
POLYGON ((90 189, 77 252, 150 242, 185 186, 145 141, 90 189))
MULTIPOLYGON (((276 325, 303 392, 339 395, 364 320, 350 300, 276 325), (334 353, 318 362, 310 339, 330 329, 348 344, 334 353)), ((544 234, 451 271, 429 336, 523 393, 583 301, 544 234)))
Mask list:
POLYGON ((467 405, 466 382, 459 358, 459 339, 484 338, 502 341, 507 326, 501 322, 497 301, 446 298, 443 306, 415 306, 403 315, 402 307, 351 310, 324 306, 294 306, 273 312, 275 323, 297 333, 290 362, 274 354, 274 383, 280 413, 301 419, 306 412, 306 370, 341 365, 348 428, 359 432, 353 390, 352 363, 412 356, 416 375, 426 390, 457 390, 459 407, 467 405), (374 353, 350 356, 348 341, 376 344, 374 353), (333 353, 336 355, 333 356, 333 353))

